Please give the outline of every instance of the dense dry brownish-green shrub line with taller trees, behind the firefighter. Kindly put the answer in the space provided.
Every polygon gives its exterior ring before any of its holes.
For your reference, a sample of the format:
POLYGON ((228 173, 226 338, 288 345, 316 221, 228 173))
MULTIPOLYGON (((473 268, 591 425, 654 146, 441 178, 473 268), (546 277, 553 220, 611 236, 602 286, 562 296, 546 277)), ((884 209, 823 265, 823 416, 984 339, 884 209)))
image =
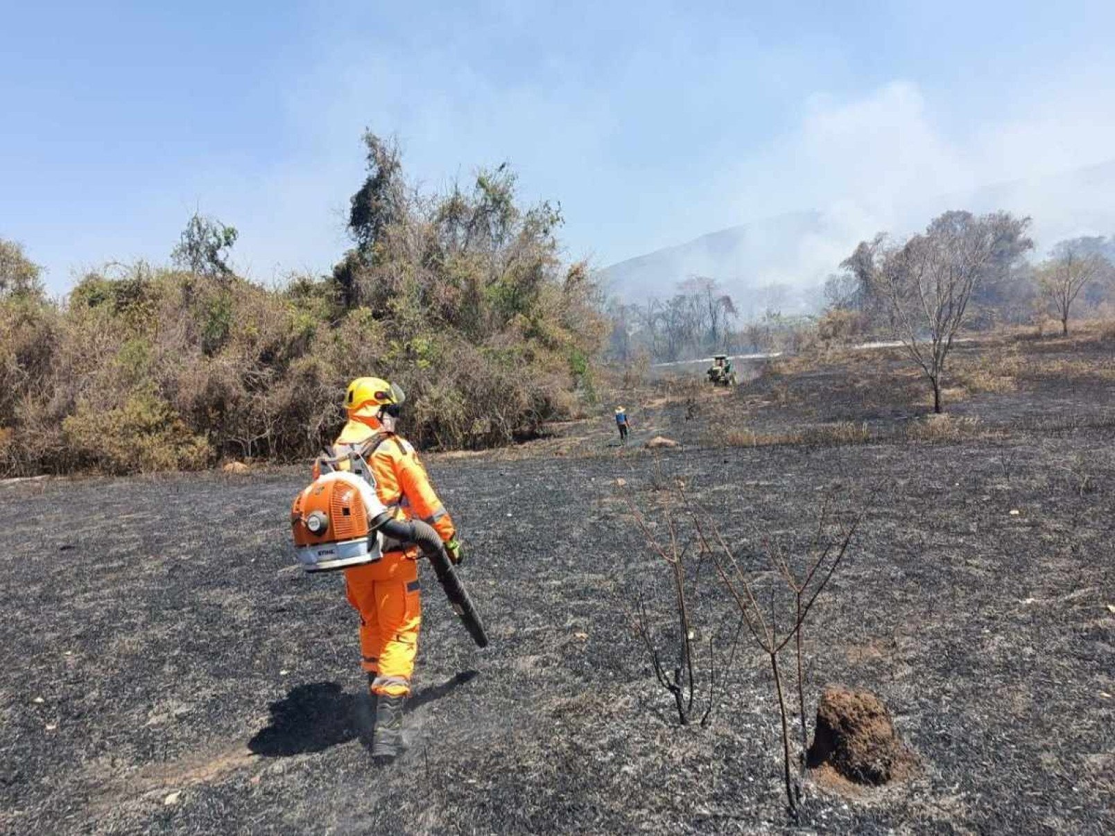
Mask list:
POLYGON ((420 194, 367 135, 355 247, 332 274, 263 288, 226 264, 235 231, 194 217, 177 266, 85 276, 61 301, 0 241, 0 475, 113 474, 312 455, 352 377, 399 382, 424 446, 536 434, 592 398, 603 327, 558 211, 514 176, 420 194))

